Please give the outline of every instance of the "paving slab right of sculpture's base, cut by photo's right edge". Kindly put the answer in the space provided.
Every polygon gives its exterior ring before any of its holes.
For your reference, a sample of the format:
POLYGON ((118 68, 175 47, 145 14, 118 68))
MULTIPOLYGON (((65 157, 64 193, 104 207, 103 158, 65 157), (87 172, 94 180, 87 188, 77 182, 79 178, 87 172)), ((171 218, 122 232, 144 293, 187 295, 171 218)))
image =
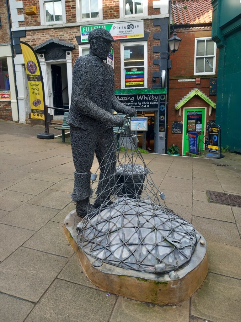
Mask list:
POLYGON ((241 248, 208 242, 209 271, 241 279, 241 248))

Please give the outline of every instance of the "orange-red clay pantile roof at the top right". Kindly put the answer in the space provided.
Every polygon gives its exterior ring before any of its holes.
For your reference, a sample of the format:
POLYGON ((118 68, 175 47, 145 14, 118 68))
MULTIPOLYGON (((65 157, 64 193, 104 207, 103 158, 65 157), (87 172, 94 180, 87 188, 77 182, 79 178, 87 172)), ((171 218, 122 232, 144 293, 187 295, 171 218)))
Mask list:
POLYGON ((207 24, 212 22, 211 0, 172 0, 174 24, 207 24))

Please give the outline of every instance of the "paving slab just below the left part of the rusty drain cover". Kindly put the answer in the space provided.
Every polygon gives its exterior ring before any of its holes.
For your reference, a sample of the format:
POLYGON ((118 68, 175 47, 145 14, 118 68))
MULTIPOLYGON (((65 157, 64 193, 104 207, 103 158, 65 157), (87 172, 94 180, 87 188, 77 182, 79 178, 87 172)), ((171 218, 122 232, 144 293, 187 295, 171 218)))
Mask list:
POLYGON ((192 214, 203 218, 218 219, 235 223, 231 207, 223 204, 193 200, 192 214))

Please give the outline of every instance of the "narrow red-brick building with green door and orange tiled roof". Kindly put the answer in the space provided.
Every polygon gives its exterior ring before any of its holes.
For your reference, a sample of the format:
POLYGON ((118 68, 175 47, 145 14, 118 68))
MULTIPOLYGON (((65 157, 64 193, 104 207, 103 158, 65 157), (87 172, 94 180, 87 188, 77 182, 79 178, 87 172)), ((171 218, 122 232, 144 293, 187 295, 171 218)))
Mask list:
POLYGON ((173 28, 182 42, 178 52, 170 56, 167 145, 177 145, 180 155, 185 155, 188 132, 199 129, 197 122, 201 129, 198 131, 201 150, 205 148, 205 141, 207 145, 207 125, 215 122, 218 51, 211 39, 210 0, 173 0, 172 16, 173 28), (194 92, 195 89, 199 91, 194 92))

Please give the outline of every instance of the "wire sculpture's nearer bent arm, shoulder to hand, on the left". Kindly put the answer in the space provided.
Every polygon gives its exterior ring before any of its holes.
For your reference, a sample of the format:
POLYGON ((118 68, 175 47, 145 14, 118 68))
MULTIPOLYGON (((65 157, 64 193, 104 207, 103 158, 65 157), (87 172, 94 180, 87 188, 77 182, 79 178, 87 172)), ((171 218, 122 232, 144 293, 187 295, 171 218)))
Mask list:
POLYGON ((112 115, 110 112, 105 111, 94 104, 94 102, 88 98, 89 89, 93 86, 89 74, 89 66, 83 58, 79 58, 73 69, 71 104, 74 104, 80 109, 81 113, 85 116, 102 121, 109 128, 113 125, 122 126, 124 123, 123 118, 118 115, 112 115))

